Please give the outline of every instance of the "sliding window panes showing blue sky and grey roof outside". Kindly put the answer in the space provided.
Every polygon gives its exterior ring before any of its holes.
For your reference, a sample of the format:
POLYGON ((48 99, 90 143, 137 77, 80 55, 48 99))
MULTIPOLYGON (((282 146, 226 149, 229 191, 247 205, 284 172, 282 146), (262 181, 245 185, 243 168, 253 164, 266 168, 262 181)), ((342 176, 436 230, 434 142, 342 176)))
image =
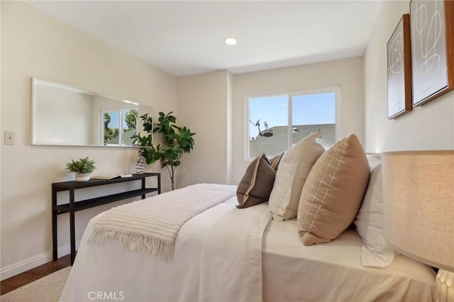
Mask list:
POLYGON ((251 94, 248 105, 245 157, 265 153, 273 157, 307 135, 321 130, 326 149, 336 142, 337 89, 297 91, 282 94, 251 94))

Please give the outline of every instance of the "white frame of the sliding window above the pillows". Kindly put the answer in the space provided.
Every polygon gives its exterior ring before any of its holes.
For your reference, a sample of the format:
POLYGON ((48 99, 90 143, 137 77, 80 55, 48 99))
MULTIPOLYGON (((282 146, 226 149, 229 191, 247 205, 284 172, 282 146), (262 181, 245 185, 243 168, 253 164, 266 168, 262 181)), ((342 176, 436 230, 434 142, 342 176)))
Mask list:
MULTIPOLYGON (((324 87, 319 89, 298 89, 298 90, 291 90, 291 91, 272 91, 272 92, 261 92, 261 93, 253 93, 253 94, 245 94, 245 119, 244 119, 244 160, 246 162, 250 162, 254 160, 254 157, 249 156, 249 140, 250 140, 250 133, 249 133, 249 116, 250 116, 250 99, 256 98, 263 98, 268 96, 287 96, 287 114, 288 114, 288 123, 292 125, 292 98, 294 96, 301 96, 307 94, 326 94, 333 92, 335 95, 334 107, 335 107, 335 114, 336 114, 336 141, 338 140, 338 121, 340 121, 340 113, 338 108, 340 108, 341 103, 341 86, 330 86, 324 87)), ((289 145, 287 148, 292 147, 292 127, 288 129, 289 135, 289 145)))

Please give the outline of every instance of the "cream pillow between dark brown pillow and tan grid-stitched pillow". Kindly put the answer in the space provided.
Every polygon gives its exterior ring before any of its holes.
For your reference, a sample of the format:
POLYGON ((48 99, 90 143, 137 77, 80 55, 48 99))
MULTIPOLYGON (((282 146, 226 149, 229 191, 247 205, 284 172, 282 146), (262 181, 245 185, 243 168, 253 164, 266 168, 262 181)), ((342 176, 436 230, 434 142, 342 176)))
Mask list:
POLYGON ((325 152, 323 146, 316 142, 320 136, 320 132, 312 133, 284 153, 268 203, 274 220, 297 217, 299 196, 306 177, 325 152))

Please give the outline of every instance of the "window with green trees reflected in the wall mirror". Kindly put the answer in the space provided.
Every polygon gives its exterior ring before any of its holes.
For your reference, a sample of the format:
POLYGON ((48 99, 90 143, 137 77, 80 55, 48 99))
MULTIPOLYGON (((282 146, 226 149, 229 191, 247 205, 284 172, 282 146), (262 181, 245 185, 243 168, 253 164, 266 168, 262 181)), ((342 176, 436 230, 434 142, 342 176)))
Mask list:
POLYGON ((101 141, 106 146, 132 146, 137 132, 138 108, 114 108, 101 111, 101 141))

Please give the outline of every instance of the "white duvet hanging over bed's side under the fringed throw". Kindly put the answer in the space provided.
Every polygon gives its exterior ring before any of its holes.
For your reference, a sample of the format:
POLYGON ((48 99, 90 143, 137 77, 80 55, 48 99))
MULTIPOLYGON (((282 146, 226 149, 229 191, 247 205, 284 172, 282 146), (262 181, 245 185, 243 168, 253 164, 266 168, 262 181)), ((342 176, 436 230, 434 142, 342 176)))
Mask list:
POLYGON ((262 301, 262 235, 270 211, 267 203, 236 204, 233 197, 188 220, 170 263, 118 249, 116 242, 87 242, 99 214, 87 225, 60 301, 262 301))

